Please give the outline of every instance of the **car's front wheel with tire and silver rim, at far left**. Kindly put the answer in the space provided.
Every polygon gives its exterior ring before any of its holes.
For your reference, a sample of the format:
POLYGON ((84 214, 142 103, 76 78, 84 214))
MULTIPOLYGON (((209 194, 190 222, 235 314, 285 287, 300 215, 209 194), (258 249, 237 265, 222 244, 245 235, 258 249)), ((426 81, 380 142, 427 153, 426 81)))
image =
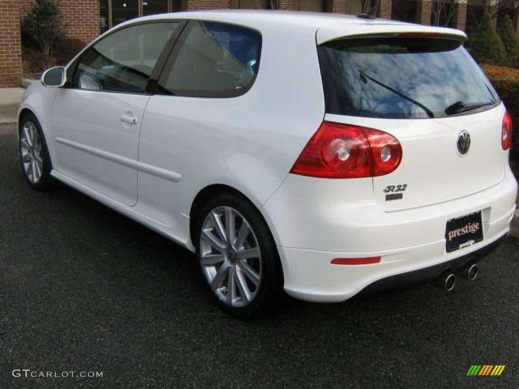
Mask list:
POLYGON ((38 190, 48 189, 51 183, 50 157, 42 128, 32 114, 20 122, 20 163, 29 185, 38 190))

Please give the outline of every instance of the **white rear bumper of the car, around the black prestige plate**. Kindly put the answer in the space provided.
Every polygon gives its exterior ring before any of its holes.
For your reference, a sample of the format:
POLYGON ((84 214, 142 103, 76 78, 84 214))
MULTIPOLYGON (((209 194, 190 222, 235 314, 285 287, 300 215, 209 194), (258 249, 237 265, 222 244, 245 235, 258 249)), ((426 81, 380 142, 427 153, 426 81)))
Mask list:
POLYGON ((384 212, 375 202, 352 202, 344 188, 322 188, 336 180, 322 180, 318 190, 310 180, 289 176, 264 206, 275 226, 284 288, 309 301, 344 301, 381 280, 397 286, 434 277, 449 266, 457 269, 506 236, 515 212, 517 183, 509 169, 498 185, 482 192, 398 212, 384 212), (286 201, 288 193, 300 196, 286 201), (447 253, 446 221, 477 211, 482 211, 484 240, 447 253), (380 263, 369 265, 331 264, 334 258, 378 256, 380 263), (417 272, 423 269, 429 270, 417 272))

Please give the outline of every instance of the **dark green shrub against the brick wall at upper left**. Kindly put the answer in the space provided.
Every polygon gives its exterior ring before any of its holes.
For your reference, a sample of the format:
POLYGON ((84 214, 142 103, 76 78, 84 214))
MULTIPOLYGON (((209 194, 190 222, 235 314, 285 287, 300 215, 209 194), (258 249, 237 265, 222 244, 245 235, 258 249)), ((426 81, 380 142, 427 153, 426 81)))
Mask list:
POLYGON ((36 0, 21 21, 22 47, 55 53, 66 38, 63 14, 54 0, 36 0))

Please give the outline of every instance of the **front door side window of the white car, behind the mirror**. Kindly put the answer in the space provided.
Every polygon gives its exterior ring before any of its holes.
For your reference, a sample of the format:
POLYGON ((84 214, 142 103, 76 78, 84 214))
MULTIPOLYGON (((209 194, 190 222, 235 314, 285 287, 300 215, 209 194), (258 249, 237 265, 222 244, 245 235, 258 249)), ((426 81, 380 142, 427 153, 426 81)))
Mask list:
POLYGON ((108 35, 81 56, 72 86, 143 93, 160 53, 178 25, 140 24, 108 35))

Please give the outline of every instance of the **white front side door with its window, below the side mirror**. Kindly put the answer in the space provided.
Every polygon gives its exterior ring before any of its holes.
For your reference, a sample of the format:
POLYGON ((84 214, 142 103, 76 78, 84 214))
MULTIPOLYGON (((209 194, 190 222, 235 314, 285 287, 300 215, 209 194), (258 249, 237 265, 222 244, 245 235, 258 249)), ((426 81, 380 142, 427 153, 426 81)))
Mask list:
POLYGON ((137 161, 147 87, 180 23, 116 30, 72 65, 52 112, 53 168, 126 205, 137 202, 137 161))

